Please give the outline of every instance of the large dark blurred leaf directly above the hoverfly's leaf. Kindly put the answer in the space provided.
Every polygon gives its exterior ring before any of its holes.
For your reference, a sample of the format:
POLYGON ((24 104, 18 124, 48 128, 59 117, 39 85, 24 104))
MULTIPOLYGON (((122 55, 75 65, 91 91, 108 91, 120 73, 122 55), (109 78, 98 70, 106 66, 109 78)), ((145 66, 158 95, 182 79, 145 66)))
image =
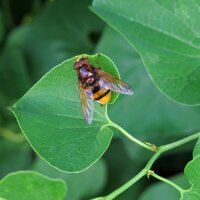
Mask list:
POLYGON ((53 66, 82 53, 92 53, 93 35, 104 23, 88 9, 90 0, 59 0, 49 3, 30 26, 24 50, 33 82, 53 66))

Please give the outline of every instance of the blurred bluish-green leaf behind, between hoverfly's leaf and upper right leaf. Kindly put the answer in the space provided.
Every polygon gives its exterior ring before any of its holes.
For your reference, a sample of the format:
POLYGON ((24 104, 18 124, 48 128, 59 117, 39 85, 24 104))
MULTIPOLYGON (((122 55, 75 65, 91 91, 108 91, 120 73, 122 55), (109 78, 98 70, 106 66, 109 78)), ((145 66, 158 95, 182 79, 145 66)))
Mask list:
MULTIPOLYGON (((183 106, 160 93, 138 54, 117 32, 107 28, 96 51, 108 55, 115 62, 122 79, 135 91, 133 96, 120 95, 115 106, 108 106, 112 121, 141 141, 155 145, 170 143, 200 130, 200 106, 183 106)), ((124 142, 134 161, 143 162, 151 156, 126 138, 124 142)), ((184 152, 185 148, 181 151, 184 152)))

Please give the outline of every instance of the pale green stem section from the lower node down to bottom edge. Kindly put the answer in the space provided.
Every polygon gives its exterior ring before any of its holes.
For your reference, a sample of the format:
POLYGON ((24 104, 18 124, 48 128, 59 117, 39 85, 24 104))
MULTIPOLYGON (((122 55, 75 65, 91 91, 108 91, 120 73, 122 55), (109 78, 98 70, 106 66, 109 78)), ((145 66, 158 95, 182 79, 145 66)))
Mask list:
POLYGON ((103 197, 103 200, 112 200, 118 195, 120 195, 122 192, 127 190, 130 186, 132 186, 134 183, 136 183, 138 180, 140 180, 143 176, 146 175, 146 171, 142 170, 140 171, 136 176, 134 176, 132 179, 130 179, 128 182, 126 182, 124 185, 119 187, 114 192, 110 193, 109 195, 103 197))

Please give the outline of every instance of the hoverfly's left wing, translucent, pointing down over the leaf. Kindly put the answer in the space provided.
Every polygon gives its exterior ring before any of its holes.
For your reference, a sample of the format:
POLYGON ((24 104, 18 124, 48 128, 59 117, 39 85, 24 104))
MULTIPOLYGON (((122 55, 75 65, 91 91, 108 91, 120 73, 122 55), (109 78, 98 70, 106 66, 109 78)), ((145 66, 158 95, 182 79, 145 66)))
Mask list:
POLYGON ((80 102, 84 119, 88 124, 92 123, 93 118, 93 93, 90 89, 84 89, 82 83, 78 81, 80 102))

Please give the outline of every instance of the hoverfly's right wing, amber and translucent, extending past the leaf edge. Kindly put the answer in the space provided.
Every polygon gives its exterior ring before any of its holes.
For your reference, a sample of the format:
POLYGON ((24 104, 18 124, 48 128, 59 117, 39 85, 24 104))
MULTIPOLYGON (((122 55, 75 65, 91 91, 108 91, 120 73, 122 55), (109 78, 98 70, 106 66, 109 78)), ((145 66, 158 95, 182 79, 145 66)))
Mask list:
POLYGON ((122 94, 127 94, 127 95, 133 94, 133 90, 130 88, 130 86, 125 82, 123 82, 122 80, 114 76, 111 76, 110 74, 100 69, 97 69, 96 72, 101 77, 101 81, 103 81, 105 88, 122 94))

